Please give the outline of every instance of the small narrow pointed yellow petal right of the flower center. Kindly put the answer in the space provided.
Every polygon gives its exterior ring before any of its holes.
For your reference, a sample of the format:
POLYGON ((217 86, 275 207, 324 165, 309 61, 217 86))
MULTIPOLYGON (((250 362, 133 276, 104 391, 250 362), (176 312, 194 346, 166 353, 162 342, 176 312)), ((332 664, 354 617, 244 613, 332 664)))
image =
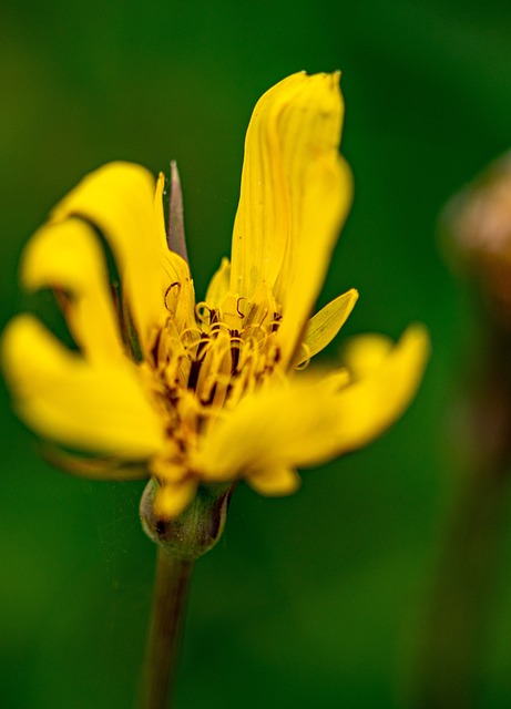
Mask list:
POLYGON ((357 300, 358 291, 351 288, 310 318, 303 342, 304 353, 297 358, 295 367, 299 367, 331 342, 348 319, 357 300))

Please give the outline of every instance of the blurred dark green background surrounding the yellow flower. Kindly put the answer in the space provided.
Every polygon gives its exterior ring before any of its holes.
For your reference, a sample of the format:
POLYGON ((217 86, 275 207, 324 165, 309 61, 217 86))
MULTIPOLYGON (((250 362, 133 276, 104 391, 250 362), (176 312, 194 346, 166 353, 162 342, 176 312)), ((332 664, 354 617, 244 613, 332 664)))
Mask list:
MULTIPOLYGON (((341 69, 356 197, 320 304, 355 286, 344 332, 397 337, 413 320, 431 330, 422 389, 381 440, 306 472, 289 499, 238 486, 223 541, 197 564, 178 708, 406 703, 456 489, 449 411, 471 343, 436 222, 511 145, 510 37, 507 0, 0 6, 1 327, 19 307, 27 238, 85 173, 116 158, 154 172, 178 161, 204 294, 229 250, 255 101, 297 70, 341 69)), ((51 469, 3 389, 1 405, 2 707, 131 707, 154 565, 136 516, 142 486, 51 469)), ((511 703, 510 638, 504 559, 481 707, 511 703)))

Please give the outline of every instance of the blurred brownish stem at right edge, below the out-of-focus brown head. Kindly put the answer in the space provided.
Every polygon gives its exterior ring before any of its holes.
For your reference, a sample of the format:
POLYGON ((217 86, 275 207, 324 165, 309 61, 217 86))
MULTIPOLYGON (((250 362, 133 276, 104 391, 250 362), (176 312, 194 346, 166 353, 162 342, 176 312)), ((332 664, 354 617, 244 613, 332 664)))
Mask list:
POLYGON ((499 566, 511 458, 511 348, 493 331, 471 405, 470 471, 446 530, 412 706, 480 706, 478 669, 499 566))

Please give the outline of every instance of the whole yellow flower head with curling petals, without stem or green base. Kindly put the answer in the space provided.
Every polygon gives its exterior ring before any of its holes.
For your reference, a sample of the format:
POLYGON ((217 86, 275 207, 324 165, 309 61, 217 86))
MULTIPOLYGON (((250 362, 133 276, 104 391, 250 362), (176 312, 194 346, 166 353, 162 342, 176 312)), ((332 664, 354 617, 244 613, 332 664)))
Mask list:
POLYGON ((263 95, 232 260, 197 305, 184 243, 166 242, 162 175, 154 184, 143 167, 112 163, 57 206, 24 251, 21 281, 54 290, 78 351, 23 314, 6 330, 3 367, 19 415, 61 446, 61 463, 153 475, 159 512, 173 516, 200 483, 244 477, 264 494, 290 493, 297 467, 365 445, 401 414, 428 357, 420 326, 396 346, 355 340, 345 368, 296 371, 358 296, 309 319, 351 202, 343 114, 338 73, 297 73, 263 95))

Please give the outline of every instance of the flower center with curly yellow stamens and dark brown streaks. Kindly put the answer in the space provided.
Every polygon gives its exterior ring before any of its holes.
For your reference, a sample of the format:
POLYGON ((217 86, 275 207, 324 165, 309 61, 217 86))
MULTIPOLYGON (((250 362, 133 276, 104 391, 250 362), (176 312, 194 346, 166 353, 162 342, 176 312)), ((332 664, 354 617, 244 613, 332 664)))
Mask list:
POLYGON ((152 389, 170 439, 185 453, 222 410, 274 374, 279 361, 274 302, 258 305, 228 294, 222 307, 205 302, 185 322, 177 309, 157 332, 152 349, 152 389))

